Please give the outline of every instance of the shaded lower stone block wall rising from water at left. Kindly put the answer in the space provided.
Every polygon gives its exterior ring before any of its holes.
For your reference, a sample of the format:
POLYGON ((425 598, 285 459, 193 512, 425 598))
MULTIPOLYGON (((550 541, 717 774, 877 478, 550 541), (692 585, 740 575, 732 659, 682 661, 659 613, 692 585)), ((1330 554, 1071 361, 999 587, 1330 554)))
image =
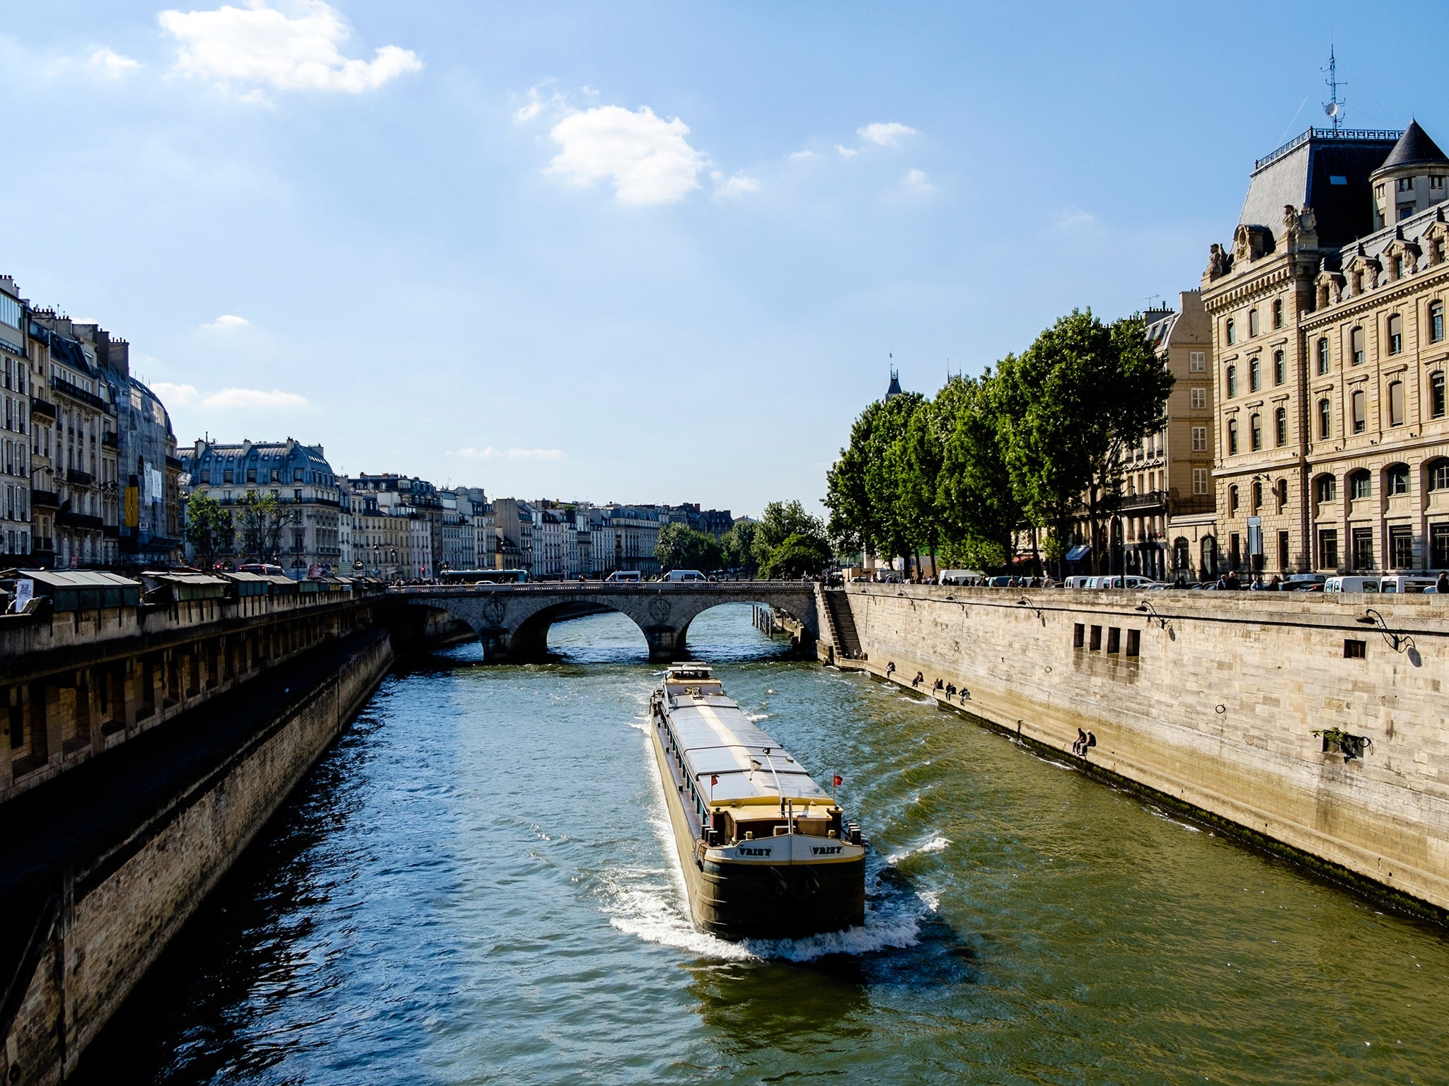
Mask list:
POLYGON ((58 1083, 74 1072, 85 1045, 391 663, 391 643, 380 633, 219 772, 138 827, 129 847, 74 873, 6 1038, 3 1082, 58 1083), (13 1069, 19 1077, 10 1077, 13 1069))

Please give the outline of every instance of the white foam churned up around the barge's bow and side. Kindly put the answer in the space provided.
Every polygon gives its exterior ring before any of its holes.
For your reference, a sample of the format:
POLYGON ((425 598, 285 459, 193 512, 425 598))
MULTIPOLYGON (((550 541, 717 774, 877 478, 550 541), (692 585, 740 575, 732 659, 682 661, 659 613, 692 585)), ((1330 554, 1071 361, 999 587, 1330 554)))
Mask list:
MULTIPOLYGON (((648 731, 648 725, 635 724, 635 727, 648 731)), ((687 950, 691 954, 722 961, 758 961, 762 959, 813 961, 826 954, 871 954, 878 950, 916 946, 920 935, 920 921, 936 911, 938 898, 929 891, 901 895, 898 899, 881 904, 867 902, 862 927, 807 938, 732 943, 717 935, 696 931, 690 922, 684 870, 680 867, 680 857, 674 847, 674 828, 669 825, 669 814, 664 808, 664 796, 659 791, 659 766, 653 759, 653 750, 648 746, 648 737, 645 756, 649 779, 655 789, 653 801, 649 804, 649 825, 664 851, 665 866, 616 867, 604 876, 609 922, 619 931, 648 943, 687 950)), ((922 849, 939 851, 948 844, 951 844, 949 840, 938 835, 922 849)))

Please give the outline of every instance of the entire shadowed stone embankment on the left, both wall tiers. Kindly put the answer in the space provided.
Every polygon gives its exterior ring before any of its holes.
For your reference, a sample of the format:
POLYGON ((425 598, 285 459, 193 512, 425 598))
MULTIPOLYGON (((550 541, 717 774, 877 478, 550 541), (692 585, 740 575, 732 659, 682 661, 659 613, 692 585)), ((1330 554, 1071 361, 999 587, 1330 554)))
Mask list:
POLYGON ((0 1083, 75 1069, 393 663, 371 599, 16 617, 0 1083))

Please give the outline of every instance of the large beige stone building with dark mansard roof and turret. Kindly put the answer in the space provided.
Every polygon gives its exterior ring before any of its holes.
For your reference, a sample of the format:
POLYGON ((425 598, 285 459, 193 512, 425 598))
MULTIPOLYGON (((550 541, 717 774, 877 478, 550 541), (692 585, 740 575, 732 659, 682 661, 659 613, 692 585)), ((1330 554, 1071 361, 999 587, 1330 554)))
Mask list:
POLYGON ((1226 565, 1449 568, 1446 178, 1417 123, 1255 164, 1203 275, 1226 565))

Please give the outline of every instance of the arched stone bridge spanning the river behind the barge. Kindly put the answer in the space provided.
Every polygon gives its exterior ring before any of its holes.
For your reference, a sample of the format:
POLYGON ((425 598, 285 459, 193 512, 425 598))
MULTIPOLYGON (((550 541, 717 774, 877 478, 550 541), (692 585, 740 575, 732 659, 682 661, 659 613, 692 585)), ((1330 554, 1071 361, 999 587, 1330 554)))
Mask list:
POLYGON ((388 595, 394 602, 467 623, 483 641, 487 660, 536 659, 548 650, 554 623, 598 611, 629 615, 649 641, 651 660, 681 659, 690 623, 720 604, 778 607, 804 624, 809 647, 820 639, 816 588, 806 581, 429 585, 396 588, 388 595))

